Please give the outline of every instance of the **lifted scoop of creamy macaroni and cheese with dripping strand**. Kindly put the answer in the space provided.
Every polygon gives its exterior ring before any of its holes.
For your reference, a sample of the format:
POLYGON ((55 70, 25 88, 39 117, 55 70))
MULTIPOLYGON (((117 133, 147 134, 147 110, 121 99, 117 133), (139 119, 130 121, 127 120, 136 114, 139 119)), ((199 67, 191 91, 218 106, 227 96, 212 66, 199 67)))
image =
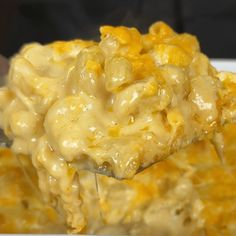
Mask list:
POLYGON ((45 199, 62 205, 72 232, 86 225, 79 170, 131 178, 236 117, 235 75, 218 73, 194 36, 163 22, 144 35, 100 32, 99 43, 24 46, 0 90, 12 150, 32 156, 45 199))

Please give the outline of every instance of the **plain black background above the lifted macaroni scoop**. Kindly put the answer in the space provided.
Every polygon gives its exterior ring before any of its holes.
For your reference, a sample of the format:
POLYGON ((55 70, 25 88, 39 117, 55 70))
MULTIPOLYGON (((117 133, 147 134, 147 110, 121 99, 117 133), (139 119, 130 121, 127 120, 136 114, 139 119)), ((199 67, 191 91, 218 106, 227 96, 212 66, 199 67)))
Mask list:
POLYGON ((157 20, 197 35, 210 57, 236 58, 236 0, 0 0, 0 54, 31 41, 98 40, 103 24, 146 32, 157 20))

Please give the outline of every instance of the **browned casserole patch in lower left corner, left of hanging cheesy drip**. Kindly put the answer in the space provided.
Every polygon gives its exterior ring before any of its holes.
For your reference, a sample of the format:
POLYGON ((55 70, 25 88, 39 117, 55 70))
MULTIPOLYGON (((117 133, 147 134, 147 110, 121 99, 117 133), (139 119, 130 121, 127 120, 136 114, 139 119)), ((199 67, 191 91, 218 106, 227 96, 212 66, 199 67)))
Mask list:
POLYGON ((0 148, 0 233, 65 232, 63 215, 43 201, 30 158, 0 148))

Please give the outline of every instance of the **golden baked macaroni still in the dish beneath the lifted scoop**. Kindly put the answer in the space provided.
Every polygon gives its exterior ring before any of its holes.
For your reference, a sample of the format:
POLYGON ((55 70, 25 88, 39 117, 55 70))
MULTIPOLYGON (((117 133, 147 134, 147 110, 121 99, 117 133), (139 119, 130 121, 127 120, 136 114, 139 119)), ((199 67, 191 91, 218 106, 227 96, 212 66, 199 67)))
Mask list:
MULTIPOLYGON (((208 141, 194 144, 130 180, 80 172, 83 233, 215 236, 236 233, 236 126, 224 129, 224 164, 208 141)), ((0 232, 64 233, 63 217, 42 202, 16 157, 0 151, 0 232)), ((37 187, 28 157, 25 170, 37 187)))

